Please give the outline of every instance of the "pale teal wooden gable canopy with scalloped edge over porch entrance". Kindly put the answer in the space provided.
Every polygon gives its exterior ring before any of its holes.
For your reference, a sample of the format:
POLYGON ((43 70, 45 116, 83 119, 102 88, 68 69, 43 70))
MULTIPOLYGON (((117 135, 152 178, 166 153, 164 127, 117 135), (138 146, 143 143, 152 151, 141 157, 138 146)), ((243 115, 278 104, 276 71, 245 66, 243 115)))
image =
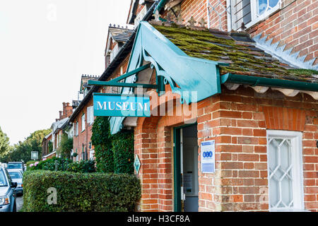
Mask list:
MULTIPOLYGON (((163 76, 172 93, 181 95, 181 102, 199 102, 206 97, 220 93, 218 65, 227 65, 207 59, 189 57, 179 47, 168 40, 146 21, 141 21, 136 33, 134 46, 126 72, 133 71, 150 61, 157 76, 163 76), (192 93, 196 92, 196 93, 192 93)), ((135 76, 126 78, 126 83, 134 83, 135 76)), ((132 94, 131 88, 123 88, 122 93, 132 94)), ((111 117, 112 134, 122 129, 124 117, 111 117)))

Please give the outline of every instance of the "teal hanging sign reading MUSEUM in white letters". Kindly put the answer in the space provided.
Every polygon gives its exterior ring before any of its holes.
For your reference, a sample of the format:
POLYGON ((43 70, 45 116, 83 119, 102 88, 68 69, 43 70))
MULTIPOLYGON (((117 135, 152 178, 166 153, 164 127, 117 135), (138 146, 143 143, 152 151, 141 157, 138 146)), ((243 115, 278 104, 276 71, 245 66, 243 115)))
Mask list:
POLYGON ((93 93, 94 116, 150 117, 147 95, 93 93))

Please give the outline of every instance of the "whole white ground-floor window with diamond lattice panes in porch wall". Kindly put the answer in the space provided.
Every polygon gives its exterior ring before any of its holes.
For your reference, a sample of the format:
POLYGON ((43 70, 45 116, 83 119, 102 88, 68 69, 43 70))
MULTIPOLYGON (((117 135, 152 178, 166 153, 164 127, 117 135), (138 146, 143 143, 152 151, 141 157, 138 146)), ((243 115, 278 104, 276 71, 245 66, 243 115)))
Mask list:
POLYGON ((302 133, 267 131, 269 208, 302 210, 302 133))

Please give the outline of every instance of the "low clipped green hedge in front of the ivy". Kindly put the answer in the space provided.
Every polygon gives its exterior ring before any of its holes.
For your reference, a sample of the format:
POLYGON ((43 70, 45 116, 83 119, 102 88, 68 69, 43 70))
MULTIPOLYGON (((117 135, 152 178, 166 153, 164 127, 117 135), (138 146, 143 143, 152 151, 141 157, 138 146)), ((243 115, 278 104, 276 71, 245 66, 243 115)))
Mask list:
POLYGON ((27 212, 133 211, 141 198, 139 179, 129 174, 35 170, 23 175, 23 210, 27 212), (47 189, 57 189, 57 204, 47 189))

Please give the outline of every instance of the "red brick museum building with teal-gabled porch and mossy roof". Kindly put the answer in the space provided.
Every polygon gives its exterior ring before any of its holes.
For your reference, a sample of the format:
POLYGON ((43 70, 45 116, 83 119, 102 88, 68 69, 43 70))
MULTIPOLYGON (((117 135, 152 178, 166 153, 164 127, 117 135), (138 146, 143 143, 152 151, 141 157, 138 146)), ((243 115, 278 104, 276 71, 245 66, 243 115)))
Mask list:
MULTIPOLYGON (((134 129, 137 210, 317 211, 317 3, 139 4, 128 23, 155 21, 136 26, 98 80, 151 63, 125 82, 158 88, 94 86, 71 116, 82 128, 93 93, 151 96, 151 117, 110 119, 112 133, 134 129), (139 4, 150 4, 143 16, 139 4)), ((83 128, 77 147, 86 150, 83 128)))

